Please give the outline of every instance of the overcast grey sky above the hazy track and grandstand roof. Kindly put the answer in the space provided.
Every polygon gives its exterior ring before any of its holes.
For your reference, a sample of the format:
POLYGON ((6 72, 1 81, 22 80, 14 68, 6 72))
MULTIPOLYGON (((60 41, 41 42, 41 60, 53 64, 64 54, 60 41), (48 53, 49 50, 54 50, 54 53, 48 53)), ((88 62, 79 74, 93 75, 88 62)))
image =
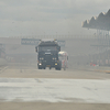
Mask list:
POLYGON ((0 0, 0 36, 92 34, 81 22, 110 9, 110 0, 0 0))

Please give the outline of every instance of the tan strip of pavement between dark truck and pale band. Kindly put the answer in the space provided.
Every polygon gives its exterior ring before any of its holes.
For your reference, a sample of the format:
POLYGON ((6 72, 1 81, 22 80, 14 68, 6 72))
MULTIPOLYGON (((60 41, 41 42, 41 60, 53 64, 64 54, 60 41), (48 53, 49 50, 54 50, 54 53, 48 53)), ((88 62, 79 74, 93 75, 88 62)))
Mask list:
MULTIPOLYGON (((65 79, 110 79, 110 74, 99 70, 96 68, 82 67, 68 68, 67 70, 55 70, 53 69, 37 69, 35 66, 9 66, 0 70, 0 77, 2 78, 65 78, 65 79)), ((100 69, 100 68, 97 68, 100 69)), ((107 69, 108 70, 108 69, 107 69)))

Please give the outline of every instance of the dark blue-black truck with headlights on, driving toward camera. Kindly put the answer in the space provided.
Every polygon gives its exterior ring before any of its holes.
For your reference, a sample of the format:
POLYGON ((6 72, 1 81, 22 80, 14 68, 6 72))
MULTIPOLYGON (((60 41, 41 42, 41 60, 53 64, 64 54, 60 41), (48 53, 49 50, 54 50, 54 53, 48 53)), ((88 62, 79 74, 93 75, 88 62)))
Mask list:
POLYGON ((62 62, 58 59, 58 52, 61 46, 57 41, 41 41, 41 43, 35 46, 37 53, 37 68, 45 69, 46 67, 55 68, 56 70, 62 69, 62 62))

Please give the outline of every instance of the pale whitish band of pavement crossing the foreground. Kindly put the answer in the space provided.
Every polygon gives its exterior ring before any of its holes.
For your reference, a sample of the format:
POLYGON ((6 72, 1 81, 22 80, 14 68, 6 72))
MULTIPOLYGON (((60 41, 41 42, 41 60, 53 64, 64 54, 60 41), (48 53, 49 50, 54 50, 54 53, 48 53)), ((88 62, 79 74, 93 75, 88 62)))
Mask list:
POLYGON ((110 103, 110 80, 0 78, 1 101, 110 103))

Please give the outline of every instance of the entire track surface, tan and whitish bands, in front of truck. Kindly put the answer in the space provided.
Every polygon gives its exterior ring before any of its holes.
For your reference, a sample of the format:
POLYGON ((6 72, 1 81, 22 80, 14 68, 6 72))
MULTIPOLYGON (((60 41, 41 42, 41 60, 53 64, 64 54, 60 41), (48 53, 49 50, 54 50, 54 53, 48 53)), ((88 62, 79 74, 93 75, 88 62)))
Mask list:
POLYGON ((9 67, 0 74, 2 110, 109 110, 109 92, 106 73, 9 67))

